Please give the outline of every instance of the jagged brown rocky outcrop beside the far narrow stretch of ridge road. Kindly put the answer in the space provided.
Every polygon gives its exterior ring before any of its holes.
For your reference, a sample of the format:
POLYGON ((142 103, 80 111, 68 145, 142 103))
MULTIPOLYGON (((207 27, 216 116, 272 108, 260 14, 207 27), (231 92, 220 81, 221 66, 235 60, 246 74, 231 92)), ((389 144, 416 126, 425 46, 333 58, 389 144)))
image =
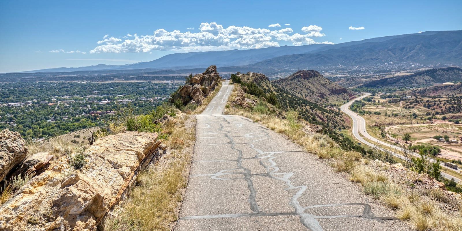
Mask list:
POLYGON ((184 105, 191 102, 200 105, 204 97, 207 97, 215 89, 220 80, 217 67, 212 65, 204 73, 196 74, 189 79, 189 85, 182 86, 173 96, 173 100, 181 100, 184 105))

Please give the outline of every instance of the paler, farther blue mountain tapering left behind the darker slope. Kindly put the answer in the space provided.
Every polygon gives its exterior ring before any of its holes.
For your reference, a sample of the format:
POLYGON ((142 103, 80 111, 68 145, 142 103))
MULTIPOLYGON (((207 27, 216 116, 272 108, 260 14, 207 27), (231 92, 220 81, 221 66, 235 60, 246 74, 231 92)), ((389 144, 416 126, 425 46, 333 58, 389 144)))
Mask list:
POLYGON ((223 50, 223 51, 206 51, 206 52, 189 52, 175 53, 165 55, 159 59, 148 62, 139 62, 134 64, 105 65, 98 64, 90 67, 59 67, 52 69, 43 69, 27 71, 22 73, 36 72, 73 72, 73 71, 90 71, 90 70, 122 70, 122 69, 191 69, 207 68, 210 63, 219 67, 241 66, 251 64, 266 59, 271 59, 280 55, 292 55, 309 52, 323 47, 332 46, 331 44, 311 44, 305 46, 282 46, 268 47, 261 49, 248 50, 223 50))

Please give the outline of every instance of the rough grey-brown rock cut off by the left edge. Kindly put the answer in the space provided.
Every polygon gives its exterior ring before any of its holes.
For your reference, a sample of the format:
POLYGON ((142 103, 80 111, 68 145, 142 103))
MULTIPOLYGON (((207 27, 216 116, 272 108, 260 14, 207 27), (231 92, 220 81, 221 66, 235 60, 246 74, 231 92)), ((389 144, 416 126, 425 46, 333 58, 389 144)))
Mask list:
POLYGON ((27 154, 25 144, 26 141, 18 132, 8 129, 0 132, 0 181, 24 160, 27 154))

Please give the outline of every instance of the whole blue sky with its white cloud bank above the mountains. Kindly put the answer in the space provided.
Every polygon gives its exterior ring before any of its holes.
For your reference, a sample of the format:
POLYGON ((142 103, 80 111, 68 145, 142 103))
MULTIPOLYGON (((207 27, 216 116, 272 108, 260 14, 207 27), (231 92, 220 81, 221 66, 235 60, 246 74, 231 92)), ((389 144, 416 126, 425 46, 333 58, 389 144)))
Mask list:
POLYGON ((2 0, 0 73, 462 30, 460 12, 461 0, 2 0))

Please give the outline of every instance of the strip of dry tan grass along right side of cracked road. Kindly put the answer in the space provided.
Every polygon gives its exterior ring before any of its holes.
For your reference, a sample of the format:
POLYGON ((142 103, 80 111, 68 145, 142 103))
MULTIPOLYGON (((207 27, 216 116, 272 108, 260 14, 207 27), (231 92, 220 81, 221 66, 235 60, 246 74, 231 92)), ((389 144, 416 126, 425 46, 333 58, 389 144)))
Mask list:
POLYGON ((288 139, 303 146, 307 152, 316 153, 319 158, 328 161, 334 170, 342 172, 352 182, 361 184, 365 194, 395 210, 399 219, 413 225, 416 230, 462 231, 460 197, 441 188, 425 188, 428 185, 421 179, 409 180, 409 175, 412 175, 432 182, 427 175, 405 169, 407 171, 403 170, 398 175, 400 177, 397 177, 393 175, 396 174, 395 168, 389 163, 371 161, 358 152, 344 151, 329 137, 306 132, 304 122, 298 121, 298 115, 294 111, 286 112, 285 119, 281 119, 255 109, 235 106, 232 102, 235 102, 238 88, 234 88, 225 114, 248 117, 286 135, 288 139))

